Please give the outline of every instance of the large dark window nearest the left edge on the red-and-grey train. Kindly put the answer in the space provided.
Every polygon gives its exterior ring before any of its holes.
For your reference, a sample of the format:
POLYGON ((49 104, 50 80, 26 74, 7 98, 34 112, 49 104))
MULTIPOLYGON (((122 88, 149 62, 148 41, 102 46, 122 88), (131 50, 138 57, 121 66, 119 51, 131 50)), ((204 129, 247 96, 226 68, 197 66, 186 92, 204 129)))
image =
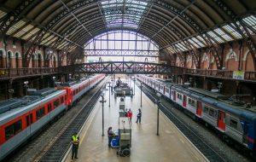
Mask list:
POLYGON ((20 130, 22 130, 21 119, 5 128, 5 140, 9 140, 9 138, 18 134, 20 130))

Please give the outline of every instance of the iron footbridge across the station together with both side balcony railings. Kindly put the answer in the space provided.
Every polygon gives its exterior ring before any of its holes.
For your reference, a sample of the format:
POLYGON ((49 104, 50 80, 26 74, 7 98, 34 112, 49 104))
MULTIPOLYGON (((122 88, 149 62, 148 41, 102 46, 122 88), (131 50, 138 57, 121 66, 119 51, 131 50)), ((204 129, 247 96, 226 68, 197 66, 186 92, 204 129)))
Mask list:
POLYGON ((234 72, 228 70, 187 69, 183 67, 168 67, 166 65, 139 62, 102 62, 91 64, 76 64, 64 67, 42 68, 0 68, 0 79, 21 78, 35 75, 46 75, 56 72, 103 72, 103 73, 165 73, 172 75, 197 75, 213 78, 237 79, 256 82, 256 72, 234 72), (79 67, 79 68, 78 68, 79 67))

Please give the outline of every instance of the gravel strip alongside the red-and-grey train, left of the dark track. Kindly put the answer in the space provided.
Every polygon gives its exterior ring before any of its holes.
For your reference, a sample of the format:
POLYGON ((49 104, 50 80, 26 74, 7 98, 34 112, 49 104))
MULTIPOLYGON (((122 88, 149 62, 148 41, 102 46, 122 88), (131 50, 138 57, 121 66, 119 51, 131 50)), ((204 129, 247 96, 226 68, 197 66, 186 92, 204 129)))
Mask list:
POLYGON ((20 148, 16 149, 14 153, 11 153, 9 157, 4 159, 6 162, 27 162, 27 161, 39 161, 43 157, 44 153, 55 143, 61 133, 67 130, 69 125, 77 114, 82 110, 84 104, 90 101, 90 98, 96 94, 98 90, 101 90, 106 78, 102 80, 95 88, 86 92, 81 100, 72 107, 67 113, 62 114, 56 118, 53 122, 45 125, 40 133, 36 136, 32 136, 32 139, 23 143, 20 148))

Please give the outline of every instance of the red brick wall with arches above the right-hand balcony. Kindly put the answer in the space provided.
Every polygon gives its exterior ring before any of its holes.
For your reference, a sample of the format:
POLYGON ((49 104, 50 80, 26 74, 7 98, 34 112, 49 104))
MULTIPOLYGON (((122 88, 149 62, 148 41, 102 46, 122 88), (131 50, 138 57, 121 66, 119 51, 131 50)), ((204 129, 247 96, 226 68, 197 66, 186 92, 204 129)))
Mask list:
MULTIPOLYGON (((201 50, 201 69, 215 70, 218 68, 216 63, 217 60, 213 55, 212 50, 201 50)), ((251 55, 246 43, 244 42, 233 42, 231 45, 229 43, 224 44, 224 48, 222 50, 218 50, 218 55, 220 55, 220 58, 222 59, 220 62, 220 64, 223 65, 221 67, 222 69, 230 71, 255 71, 253 55, 251 55)), ((195 68, 195 61, 193 61, 193 57, 191 55, 188 54, 185 59, 185 67, 195 68)), ((179 57, 177 57, 176 65, 178 67, 184 67, 184 63, 179 57)))

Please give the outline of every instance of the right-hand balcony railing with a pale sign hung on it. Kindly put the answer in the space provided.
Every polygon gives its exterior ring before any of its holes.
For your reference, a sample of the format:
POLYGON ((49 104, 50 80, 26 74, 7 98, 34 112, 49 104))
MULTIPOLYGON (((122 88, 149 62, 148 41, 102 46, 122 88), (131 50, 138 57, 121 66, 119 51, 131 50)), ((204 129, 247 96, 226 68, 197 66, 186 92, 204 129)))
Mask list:
POLYGON ((256 81, 256 72, 235 72, 229 70, 183 69, 184 74, 256 81), (239 74, 236 74, 239 73, 239 74))

